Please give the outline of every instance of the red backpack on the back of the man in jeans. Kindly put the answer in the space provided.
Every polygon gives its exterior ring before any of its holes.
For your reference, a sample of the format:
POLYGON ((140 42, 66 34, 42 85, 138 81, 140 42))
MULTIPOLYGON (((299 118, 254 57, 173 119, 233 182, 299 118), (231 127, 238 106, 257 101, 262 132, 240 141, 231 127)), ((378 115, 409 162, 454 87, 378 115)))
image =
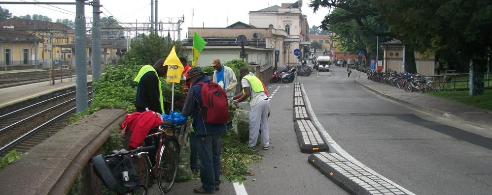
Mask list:
POLYGON ((202 85, 202 104, 200 115, 206 124, 223 124, 229 120, 227 95, 220 85, 210 82, 199 82, 202 85))

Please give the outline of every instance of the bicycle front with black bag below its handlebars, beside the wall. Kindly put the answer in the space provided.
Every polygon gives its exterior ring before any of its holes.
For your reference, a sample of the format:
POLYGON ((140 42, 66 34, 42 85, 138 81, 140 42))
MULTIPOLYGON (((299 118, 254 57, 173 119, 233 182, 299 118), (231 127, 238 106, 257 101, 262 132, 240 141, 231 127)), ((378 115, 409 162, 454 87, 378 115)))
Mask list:
POLYGON ((149 169, 134 167, 131 160, 141 159, 143 162, 149 162, 148 153, 153 150, 155 150, 154 146, 148 146, 138 147, 130 151, 125 149, 113 150, 112 154, 105 156, 97 155, 91 158, 94 173, 103 181, 105 186, 118 194, 145 195, 147 186, 140 174, 146 171, 148 175, 149 169))

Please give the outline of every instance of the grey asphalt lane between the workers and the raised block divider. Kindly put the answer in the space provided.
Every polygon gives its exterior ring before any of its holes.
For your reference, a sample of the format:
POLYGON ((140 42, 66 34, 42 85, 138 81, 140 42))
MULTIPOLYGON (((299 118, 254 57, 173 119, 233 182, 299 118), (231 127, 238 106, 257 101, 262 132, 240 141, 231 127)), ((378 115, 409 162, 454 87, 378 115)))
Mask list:
MULTIPOLYGON (((248 195, 348 195, 315 167, 308 163, 310 154, 299 149, 293 122, 294 84, 269 84, 270 99, 269 136, 270 149, 259 149, 263 161, 253 163, 252 176, 244 181, 248 195)), ((154 185, 149 195, 158 195, 154 185)), ((193 195, 193 188, 201 186, 199 180, 177 183, 166 195, 193 195)), ((216 195, 244 195, 236 193, 233 184, 222 181, 216 195)))

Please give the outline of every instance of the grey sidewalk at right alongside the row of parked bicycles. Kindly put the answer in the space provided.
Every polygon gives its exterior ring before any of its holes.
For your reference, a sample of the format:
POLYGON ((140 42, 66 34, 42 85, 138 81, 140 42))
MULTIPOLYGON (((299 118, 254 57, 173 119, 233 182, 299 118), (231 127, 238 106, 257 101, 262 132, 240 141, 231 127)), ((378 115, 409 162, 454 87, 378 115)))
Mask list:
POLYGON ((439 117, 467 123, 479 128, 492 129, 492 111, 471 107, 459 102, 446 100, 419 92, 406 92, 403 89, 391 85, 375 82, 367 79, 367 74, 362 73, 355 83, 393 101, 401 102, 411 108, 428 112, 439 117))

